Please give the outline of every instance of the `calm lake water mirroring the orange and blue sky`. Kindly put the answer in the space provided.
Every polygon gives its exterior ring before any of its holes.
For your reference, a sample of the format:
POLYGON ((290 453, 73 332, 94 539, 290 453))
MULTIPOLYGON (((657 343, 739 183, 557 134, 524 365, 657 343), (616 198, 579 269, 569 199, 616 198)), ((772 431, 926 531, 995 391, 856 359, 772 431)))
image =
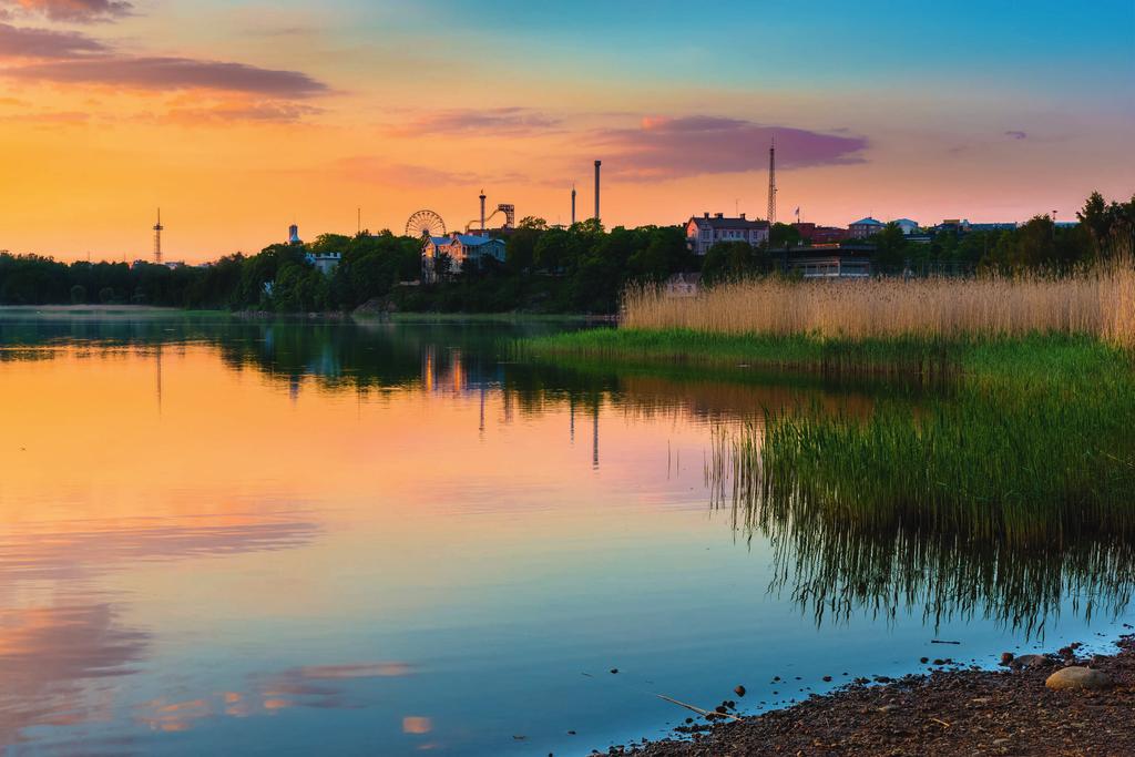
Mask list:
POLYGON ((1128 620, 1060 565, 734 528, 715 429, 882 389, 503 356, 554 328, 0 316, 0 743, 583 755, 690 714, 659 693, 754 712, 1128 620))

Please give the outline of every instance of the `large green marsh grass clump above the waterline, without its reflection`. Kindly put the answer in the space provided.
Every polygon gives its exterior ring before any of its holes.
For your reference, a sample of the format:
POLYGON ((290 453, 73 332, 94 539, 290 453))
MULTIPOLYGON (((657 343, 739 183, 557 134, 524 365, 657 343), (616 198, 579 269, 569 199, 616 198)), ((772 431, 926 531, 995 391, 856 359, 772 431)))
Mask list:
POLYGON ((1087 338, 965 343, 949 393, 866 420, 770 415, 729 449, 738 495, 827 528, 1012 546, 1135 537, 1135 373, 1087 338))

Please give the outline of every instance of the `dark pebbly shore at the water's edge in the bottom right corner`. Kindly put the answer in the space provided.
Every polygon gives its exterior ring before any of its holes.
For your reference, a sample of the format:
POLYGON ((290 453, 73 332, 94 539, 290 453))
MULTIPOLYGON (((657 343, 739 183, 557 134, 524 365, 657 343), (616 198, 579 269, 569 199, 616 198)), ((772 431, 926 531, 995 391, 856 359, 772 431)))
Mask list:
POLYGON ((688 713, 690 717, 674 729, 674 737, 611 747, 607 754, 1135 754, 1135 723, 1130 722, 1135 634, 1121 636, 1115 645, 1112 654, 1085 654, 1078 644, 1046 655, 1006 653, 999 670, 955 667, 874 682, 858 679, 832 692, 751 716, 734 714, 743 701, 743 689, 739 689, 716 712, 688 713), (1046 685, 1050 676, 1068 667, 1086 667, 1108 680, 1096 681, 1100 688, 1053 690, 1046 685))

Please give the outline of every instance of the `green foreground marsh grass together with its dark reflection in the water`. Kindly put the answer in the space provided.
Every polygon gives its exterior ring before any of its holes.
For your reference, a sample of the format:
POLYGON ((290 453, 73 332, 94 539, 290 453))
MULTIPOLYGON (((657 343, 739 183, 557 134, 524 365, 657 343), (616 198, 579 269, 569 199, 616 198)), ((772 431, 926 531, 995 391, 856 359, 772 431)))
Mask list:
POLYGON ((816 615, 918 603, 1040 633, 1065 597, 1115 615, 1135 586, 1130 354, 1087 337, 974 342, 959 381, 868 417, 798 406, 718 430, 715 507, 774 545, 816 615))

